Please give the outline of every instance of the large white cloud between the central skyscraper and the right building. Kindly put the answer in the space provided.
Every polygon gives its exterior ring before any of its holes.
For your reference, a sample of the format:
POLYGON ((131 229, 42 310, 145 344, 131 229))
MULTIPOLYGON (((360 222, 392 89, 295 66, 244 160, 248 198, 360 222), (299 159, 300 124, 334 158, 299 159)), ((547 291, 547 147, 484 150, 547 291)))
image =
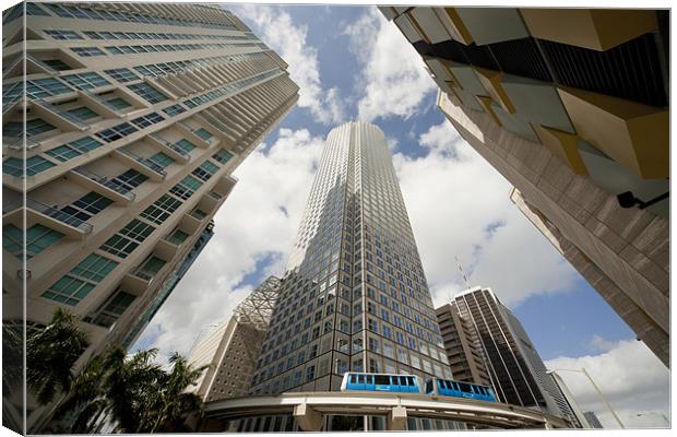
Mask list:
POLYGON ((428 153, 393 162, 436 305, 471 286, 508 306, 567 291, 577 273, 510 201, 512 187, 444 121, 419 137, 428 153))

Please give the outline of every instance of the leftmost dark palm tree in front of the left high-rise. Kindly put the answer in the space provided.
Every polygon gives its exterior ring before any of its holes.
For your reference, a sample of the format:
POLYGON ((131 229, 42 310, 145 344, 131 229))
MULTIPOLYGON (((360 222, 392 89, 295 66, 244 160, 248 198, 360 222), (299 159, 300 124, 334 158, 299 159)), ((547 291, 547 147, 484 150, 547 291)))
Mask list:
POLYGON ((72 368, 90 345, 87 333, 78 324, 78 316, 61 308, 44 329, 33 330, 26 339, 26 383, 39 404, 51 402, 58 392, 68 392, 72 368))

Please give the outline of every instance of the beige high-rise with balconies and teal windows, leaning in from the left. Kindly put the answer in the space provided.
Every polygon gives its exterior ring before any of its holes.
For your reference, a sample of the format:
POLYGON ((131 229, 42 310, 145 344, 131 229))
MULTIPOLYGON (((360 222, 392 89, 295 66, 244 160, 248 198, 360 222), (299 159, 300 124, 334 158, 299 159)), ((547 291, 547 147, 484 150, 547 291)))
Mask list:
POLYGON ((82 363, 153 307, 298 86, 219 5, 28 2, 2 36, 3 320, 81 316, 82 363))

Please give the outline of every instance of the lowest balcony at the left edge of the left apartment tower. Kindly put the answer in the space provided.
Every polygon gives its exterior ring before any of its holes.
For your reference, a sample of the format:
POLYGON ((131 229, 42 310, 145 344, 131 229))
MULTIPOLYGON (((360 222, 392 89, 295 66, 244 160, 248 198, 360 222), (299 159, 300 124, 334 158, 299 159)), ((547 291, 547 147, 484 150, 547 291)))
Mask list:
POLYGON ((23 200, 20 199, 13 203, 3 205, 3 220, 11 220, 11 215, 21 214, 23 208, 26 209, 27 220, 43 223, 45 226, 72 238, 83 239, 84 236, 91 234, 94 228, 92 224, 61 211, 58 205, 50 206, 31 198, 26 198, 25 204, 23 200))

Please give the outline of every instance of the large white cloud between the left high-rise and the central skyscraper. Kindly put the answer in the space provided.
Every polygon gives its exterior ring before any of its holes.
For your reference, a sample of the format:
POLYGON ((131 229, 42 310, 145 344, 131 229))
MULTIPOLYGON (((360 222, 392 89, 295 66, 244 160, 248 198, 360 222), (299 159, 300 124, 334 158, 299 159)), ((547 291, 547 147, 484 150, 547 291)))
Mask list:
POLYGON ((139 343, 154 343, 164 356, 187 353, 203 327, 227 319, 248 296, 251 287, 237 285, 257 262, 272 257, 264 275, 283 273, 322 146, 305 129, 281 129, 265 155, 258 150, 247 157, 215 216, 212 240, 139 343))

